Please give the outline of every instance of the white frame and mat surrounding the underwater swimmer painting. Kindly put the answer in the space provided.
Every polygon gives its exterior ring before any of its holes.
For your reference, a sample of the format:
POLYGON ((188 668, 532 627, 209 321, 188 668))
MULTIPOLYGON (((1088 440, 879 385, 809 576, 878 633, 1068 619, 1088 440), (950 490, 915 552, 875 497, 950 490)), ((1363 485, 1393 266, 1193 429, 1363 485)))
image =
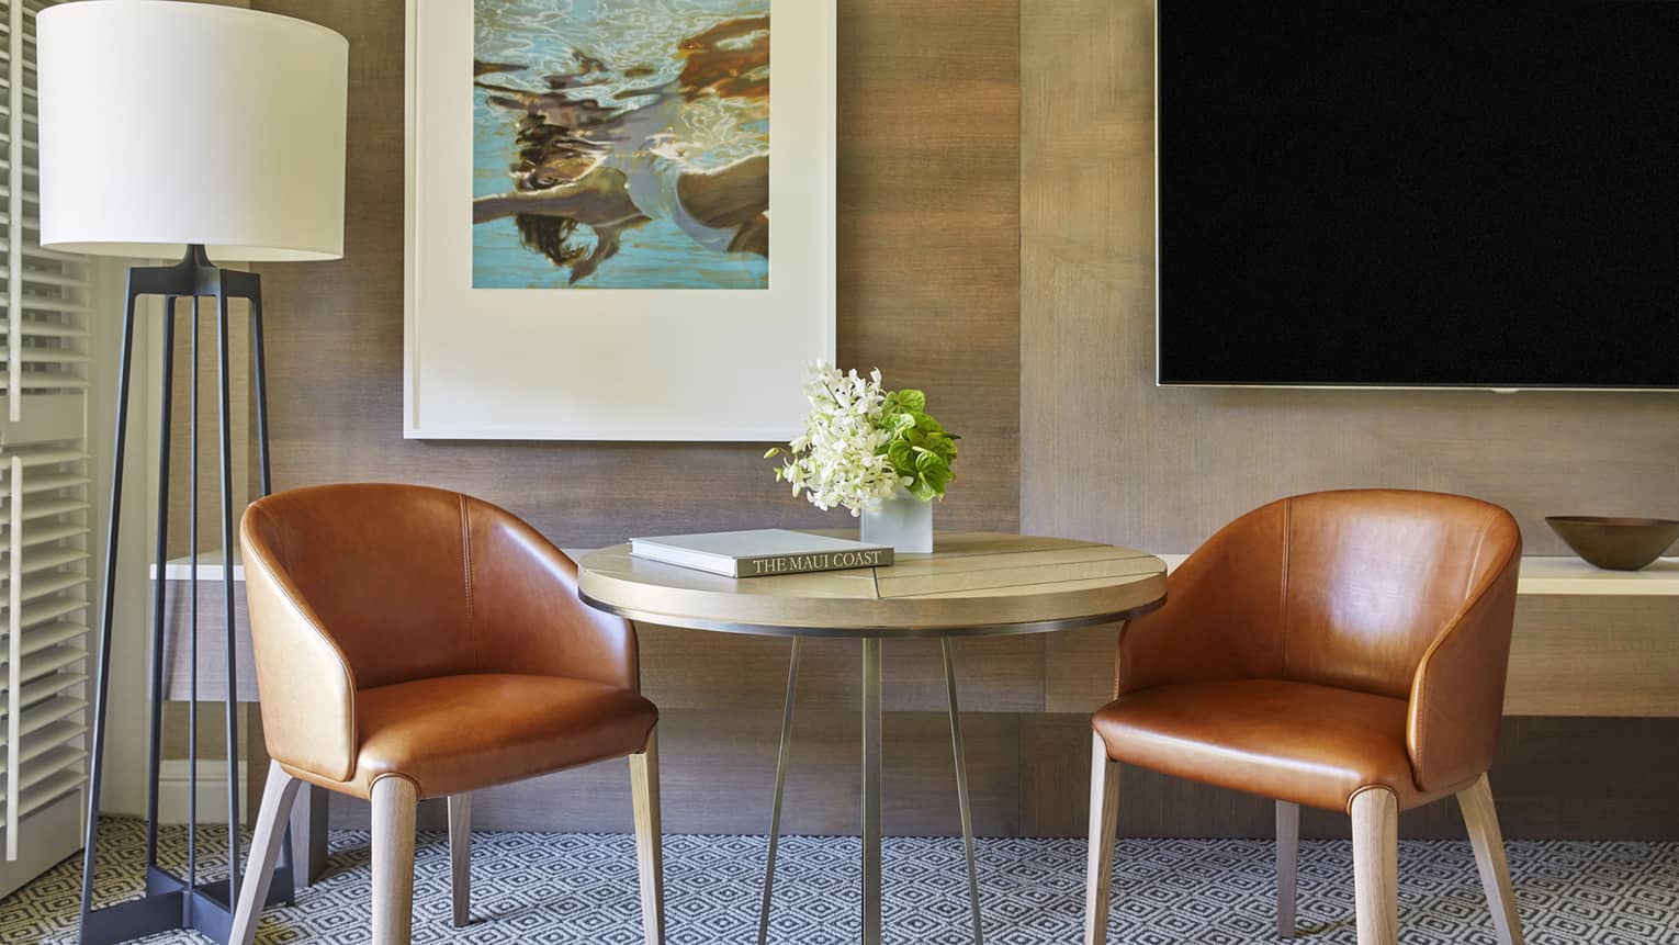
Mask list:
POLYGON ((408 0, 403 435, 782 441, 834 358, 836 0, 777 0, 767 289, 473 289, 473 3, 408 0))

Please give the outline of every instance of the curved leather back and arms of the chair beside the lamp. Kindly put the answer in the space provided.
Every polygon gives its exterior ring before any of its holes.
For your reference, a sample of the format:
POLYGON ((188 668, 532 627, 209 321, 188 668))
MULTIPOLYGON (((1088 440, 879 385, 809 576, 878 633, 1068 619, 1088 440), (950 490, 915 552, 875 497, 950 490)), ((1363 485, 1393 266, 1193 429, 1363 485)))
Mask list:
POLYGON ((509 512, 442 488, 348 483, 260 499, 242 524, 269 754, 354 767, 359 690, 470 673, 638 692, 635 629, 509 512))

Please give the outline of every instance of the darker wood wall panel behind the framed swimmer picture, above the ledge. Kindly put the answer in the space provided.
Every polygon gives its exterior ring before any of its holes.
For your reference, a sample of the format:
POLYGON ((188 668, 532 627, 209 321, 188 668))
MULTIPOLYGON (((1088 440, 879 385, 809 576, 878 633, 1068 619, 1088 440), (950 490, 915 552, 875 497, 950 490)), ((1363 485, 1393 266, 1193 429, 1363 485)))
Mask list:
MULTIPOLYGON (((579 547, 636 534, 851 525, 792 500, 762 445, 405 441, 403 3, 254 7, 332 27, 356 50, 346 257, 260 267, 277 487, 458 488, 579 547)), ((838 32, 840 361, 878 364, 892 384, 927 389, 940 421, 964 435, 942 527, 1014 530, 1016 0, 848 0, 838 32)))

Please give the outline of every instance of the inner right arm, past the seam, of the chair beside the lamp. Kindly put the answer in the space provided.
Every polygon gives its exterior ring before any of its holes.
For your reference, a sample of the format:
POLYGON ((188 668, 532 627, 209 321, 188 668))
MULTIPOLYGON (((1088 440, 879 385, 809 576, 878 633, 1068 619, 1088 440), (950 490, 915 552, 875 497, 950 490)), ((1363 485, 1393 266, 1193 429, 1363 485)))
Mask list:
POLYGON ((468 500, 479 671, 641 688, 636 633, 578 598, 578 566, 517 517, 468 500))

